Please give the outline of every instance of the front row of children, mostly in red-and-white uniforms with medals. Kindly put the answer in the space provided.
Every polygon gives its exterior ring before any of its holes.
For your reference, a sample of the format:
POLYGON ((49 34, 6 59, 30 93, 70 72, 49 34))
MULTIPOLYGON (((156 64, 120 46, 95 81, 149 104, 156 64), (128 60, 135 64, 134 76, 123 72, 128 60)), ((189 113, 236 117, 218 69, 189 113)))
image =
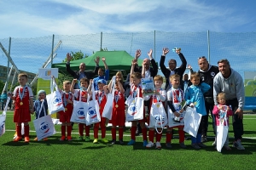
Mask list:
MULTIPOLYGON (((163 106, 167 106, 166 114, 168 116, 173 117, 173 124, 167 124, 166 130, 166 147, 172 148, 172 129, 177 128, 179 134, 179 145, 181 148, 186 148, 184 144, 184 122, 183 117, 185 114, 185 109, 181 105, 183 101, 186 102, 186 105, 190 107, 195 107, 195 110, 200 113, 202 116, 207 115, 207 111, 205 108, 205 102, 203 94, 210 89, 210 86, 204 82, 200 83, 200 77, 198 73, 191 74, 190 81, 192 85, 188 88, 186 93, 183 93, 183 90, 180 87, 180 77, 177 74, 170 76, 170 82, 172 84, 172 88, 166 92, 166 90, 162 89, 163 77, 157 75, 154 77, 154 94, 146 95, 143 92, 143 88, 141 86, 142 74, 138 72, 133 72, 134 66, 136 62, 132 62, 131 66, 131 100, 134 101, 136 97, 143 98, 144 100, 149 100, 151 107, 152 104, 156 102, 160 102, 163 106), (177 124, 175 122, 178 122, 177 124)), ((99 104, 99 112, 101 115, 101 122, 97 122, 94 124, 94 139, 93 143, 98 143, 98 131, 99 127, 101 127, 102 131, 102 142, 108 143, 108 139, 106 139, 106 123, 108 120, 105 117, 102 117, 102 112, 104 110, 104 106, 107 102, 108 93, 111 92, 112 88, 114 90, 114 98, 113 98, 113 113, 112 113, 112 123, 111 133, 112 133, 112 141, 111 144, 115 144, 116 139, 116 128, 119 127, 119 144, 124 144, 123 141, 123 133, 125 127, 125 89, 122 84, 122 73, 120 71, 117 72, 114 77, 115 81, 112 85, 112 82, 107 82, 104 79, 99 79, 96 82, 98 90, 95 91, 96 100, 99 104)), ((17 138, 14 139, 15 142, 20 141, 22 139, 21 135, 21 122, 24 122, 24 137, 25 142, 29 142, 29 125, 28 122, 31 121, 30 114, 36 113, 36 118, 44 116, 47 114, 48 106, 45 99, 44 90, 38 91, 38 99, 33 104, 32 98, 32 89, 26 86, 27 76, 24 73, 20 73, 18 76, 18 81, 20 83, 19 87, 15 88, 14 95, 12 99, 15 100, 15 113, 14 113, 14 122, 16 123, 16 133, 17 138), (44 104, 42 105, 42 102, 44 104), (41 107, 44 108, 41 108, 41 107)), ((60 140, 72 140, 72 122, 70 122, 71 116, 73 114, 73 102, 74 100, 78 102, 87 102, 87 100, 91 100, 92 90, 91 87, 94 85, 93 80, 88 80, 87 78, 81 78, 79 81, 73 79, 73 82, 65 81, 63 82, 63 90, 61 90, 61 96, 63 100, 63 105, 65 107, 65 111, 60 111, 60 122, 61 124, 61 139, 60 140), (74 84, 79 83, 80 89, 74 89, 74 84), (67 129, 67 135, 66 135, 67 129)), ((132 102, 131 102, 132 103, 132 102)), ((131 105, 131 103, 128 103, 131 105)), ((213 114, 216 116, 216 120, 220 119, 220 112, 225 105, 224 93, 218 94, 218 103, 213 110, 213 114)), ((150 109, 148 109, 150 115, 150 109)), ((228 116, 232 115, 232 111, 228 108, 228 116)), ((146 117, 145 111, 143 111, 143 119, 139 121, 131 122, 131 140, 128 142, 128 145, 132 145, 136 143, 136 130, 137 130, 137 122, 140 123, 142 127, 143 133, 143 146, 147 148, 154 147, 156 149, 161 148, 161 130, 157 128, 156 139, 154 144, 154 127, 149 126, 149 131, 147 132, 147 127, 145 125, 146 122, 149 122, 150 116, 146 117)), ((219 122, 216 121, 216 125, 218 126, 219 122)), ((216 130, 216 129, 215 129, 216 130)), ((84 123, 79 123, 79 140, 90 141, 90 125, 86 125, 84 123), (85 136, 84 136, 85 129, 85 136)), ((34 140, 38 140, 37 138, 34 140)), ((47 140, 47 139, 44 139, 47 140)), ((206 147, 205 144, 201 143, 201 125, 199 127, 198 133, 196 137, 191 137, 191 145, 196 150, 206 147)), ((224 144, 224 148, 230 150, 228 145, 228 137, 227 142, 224 144)))

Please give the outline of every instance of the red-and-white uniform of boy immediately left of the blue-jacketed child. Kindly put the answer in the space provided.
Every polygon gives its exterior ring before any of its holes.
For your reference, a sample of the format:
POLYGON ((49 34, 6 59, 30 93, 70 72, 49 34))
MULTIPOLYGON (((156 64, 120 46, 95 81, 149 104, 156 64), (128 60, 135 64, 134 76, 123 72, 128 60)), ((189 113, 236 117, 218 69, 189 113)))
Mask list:
MULTIPOLYGON (((183 144, 185 133, 183 131, 184 120, 183 113, 179 113, 180 116, 177 118, 174 112, 179 112, 182 109, 181 102, 184 100, 185 96, 181 88, 170 88, 167 92, 167 104, 168 104, 168 127, 178 128, 179 144, 183 144), (176 119, 177 118, 177 119, 176 119)), ((172 132, 166 132, 166 144, 172 143, 172 132)), ((182 146, 182 145, 181 145, 182 146)), ((183 148, 185 148, 183 146, 183 148)))

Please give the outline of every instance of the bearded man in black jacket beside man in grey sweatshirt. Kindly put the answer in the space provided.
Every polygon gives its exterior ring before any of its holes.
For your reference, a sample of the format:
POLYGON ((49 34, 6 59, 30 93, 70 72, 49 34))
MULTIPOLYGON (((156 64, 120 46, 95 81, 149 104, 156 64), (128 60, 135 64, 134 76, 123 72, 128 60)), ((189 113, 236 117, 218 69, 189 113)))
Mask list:
MULTIPOLYGON (((214 100, 213 100, 213 78, 218 74, 218 66, 210 65, 207 61, 207 58, 205 56, 202 56, 198 58, 198 65, 199 65, 199 75, 201 82, 206 82, 211 86, 211 88, 204 94, 205 98, 205 105, 207 113, 211 113, 214 106, 214 100)), ((191 70, 192 71, 192 70, 191 70)), ((207 142, 207 130, 208 130, 208 114, 206 116, 201 117, 202 122, 202 137, 201 142, 207 142)), ((215 120, 214 116, 212 116, 212 128, 215 127, 215 120)))

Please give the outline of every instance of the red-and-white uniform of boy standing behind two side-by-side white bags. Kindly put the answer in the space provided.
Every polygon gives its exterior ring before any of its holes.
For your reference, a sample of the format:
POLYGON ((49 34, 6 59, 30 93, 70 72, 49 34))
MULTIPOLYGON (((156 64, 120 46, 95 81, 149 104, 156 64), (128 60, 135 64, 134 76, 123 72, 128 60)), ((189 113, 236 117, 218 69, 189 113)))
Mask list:
MULTIPOLYGON (((81 102, 87 102, 88 92, 86 90, 74 89, 73 96, 79 101, 81 95, 81 102)), ((85 140, 90 141, 90 125, 86 126, 84 123, 79 123, 79 135, 81 139, 84 136, 84 127, 85 127, 85 140)))

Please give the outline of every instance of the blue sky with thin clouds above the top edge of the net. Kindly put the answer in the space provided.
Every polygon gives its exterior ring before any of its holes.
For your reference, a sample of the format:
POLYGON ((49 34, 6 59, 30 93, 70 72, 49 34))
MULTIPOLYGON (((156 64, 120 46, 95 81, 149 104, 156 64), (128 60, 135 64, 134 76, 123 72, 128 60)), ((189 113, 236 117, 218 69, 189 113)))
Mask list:
POLYGON ((254 0, 6 0, 0 39, 137 31, 255 31, 254 0))

